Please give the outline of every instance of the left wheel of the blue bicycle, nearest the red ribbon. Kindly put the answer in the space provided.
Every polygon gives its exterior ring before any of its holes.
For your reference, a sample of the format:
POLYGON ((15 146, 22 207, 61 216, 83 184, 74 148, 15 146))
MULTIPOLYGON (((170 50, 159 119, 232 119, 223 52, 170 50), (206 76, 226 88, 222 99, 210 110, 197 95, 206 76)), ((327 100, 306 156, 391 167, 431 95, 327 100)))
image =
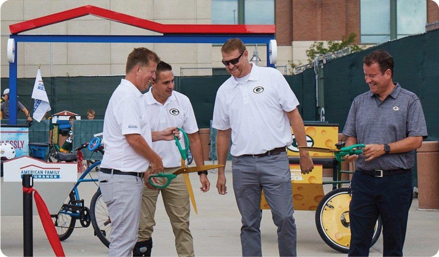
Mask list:
MULTIPOLYGON (((76 200, 75 194, 71 192, 64 204, 74 204, 74 200, 76 200)), ((65 212, 67 212, 67 210, 62 206, 58 214, 52 215, 52 221, 54 222, 55 229, 61 241, 68 239, 68 237, 72 235, 76 223, 76 218, 65 214, 65 212)))

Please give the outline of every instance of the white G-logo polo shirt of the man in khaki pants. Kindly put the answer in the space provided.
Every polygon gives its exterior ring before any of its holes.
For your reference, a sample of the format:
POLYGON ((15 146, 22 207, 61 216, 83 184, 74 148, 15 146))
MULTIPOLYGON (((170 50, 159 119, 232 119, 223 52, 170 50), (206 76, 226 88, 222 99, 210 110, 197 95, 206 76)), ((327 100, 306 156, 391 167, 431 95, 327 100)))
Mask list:
MULTIPOLYGON (((151 87, 145 94, 145 105, 152 131, 164 130, 168 127, 181 127, 187 134, 198 131, 194 109, 192 109, 191 101, 187 96, 172 91, 172 95, 162 105, 155 100, 151 90, 154 90, 154 87, 151 87)), ((180 144, 184 148, 183 134, 180 133, 180 135, 180 144)), ((175 140, 155 141, 152 143, 152 149, 163 158, 163 167, 181 166, 181 156, 175 145, 175 140)))

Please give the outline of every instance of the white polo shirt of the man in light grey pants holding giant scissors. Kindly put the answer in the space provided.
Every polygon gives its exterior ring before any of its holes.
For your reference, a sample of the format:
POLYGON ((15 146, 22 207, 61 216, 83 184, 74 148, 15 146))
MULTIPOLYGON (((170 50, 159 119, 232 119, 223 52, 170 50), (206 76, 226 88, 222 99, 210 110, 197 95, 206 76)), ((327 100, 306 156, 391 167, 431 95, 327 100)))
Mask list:
POLYGON ((105 154, 101 167, 144 172, 149 160, 140 156, 126 141, 126 134, 140 134, 152 145, 151 125, 144 109, 144 95, 128 80, 122 79, 114 90, 104 116, 105 154))

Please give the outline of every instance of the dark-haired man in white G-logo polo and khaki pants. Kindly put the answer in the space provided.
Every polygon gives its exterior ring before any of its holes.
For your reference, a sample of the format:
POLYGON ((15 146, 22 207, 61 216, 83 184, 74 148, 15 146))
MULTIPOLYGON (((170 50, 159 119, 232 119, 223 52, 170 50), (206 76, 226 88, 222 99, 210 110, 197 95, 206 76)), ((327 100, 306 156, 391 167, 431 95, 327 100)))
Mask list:
MULTIPOLYGON (((174 75, 171 65, 159 62, 155 72, 156 78, 151 82, 151 89, 145 94, 145 105, 151 122, 152 130, 162 130, 167 127, 181 127, 190 141, 191 151, 197 165, 204 165, 203 148, 198 133, 197 120, 191 101, 184 94, 174 91, 174 75)), ((180 139, 184 147, 184 138, 180 139)), ((163 158, 165 173, 173 173, 181 167, 181 156, 174 141, 158 141, 152 143, 152 148, 163 158)), ((201 191, 210 188, 207 171, 198 172, 201 181, 201 191)), ((178 256, 194 256, 194 243, 189 230, 189 193, 183 176, 177 176, 168 187, 157 190, 148 182, 149 174, 145 174, 146 187, 143 189, 140 212, 139 235, 133 256, 151 256, 154 214, 159 192, 162 192, 166 213, 171 221, 175 235, 175 246, 178 256)), ((165 179, 155 180, 164 184, 165 179)))

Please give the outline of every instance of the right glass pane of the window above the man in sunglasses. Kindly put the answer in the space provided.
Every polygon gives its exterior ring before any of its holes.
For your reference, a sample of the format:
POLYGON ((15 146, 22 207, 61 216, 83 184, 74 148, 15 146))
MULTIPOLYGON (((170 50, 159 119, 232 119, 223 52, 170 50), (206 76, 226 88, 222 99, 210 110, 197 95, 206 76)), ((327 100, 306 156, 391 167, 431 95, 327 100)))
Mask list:
POLYGON ((245 0, 245 24, 274 24, 274 0, 245 0))

